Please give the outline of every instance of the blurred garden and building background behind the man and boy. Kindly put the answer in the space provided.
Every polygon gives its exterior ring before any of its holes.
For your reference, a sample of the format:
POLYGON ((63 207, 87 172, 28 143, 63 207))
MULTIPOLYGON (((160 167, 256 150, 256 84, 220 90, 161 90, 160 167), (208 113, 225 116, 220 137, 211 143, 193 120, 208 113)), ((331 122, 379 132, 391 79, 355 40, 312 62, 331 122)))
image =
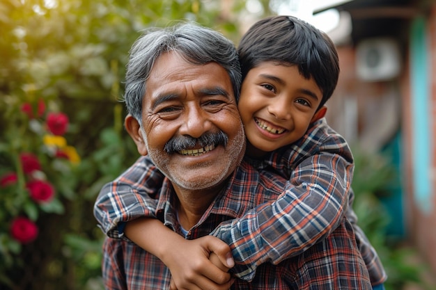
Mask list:
POLYGON ((139 156, 120 98, 142 29, 189 19, 238 45, 277 14, 338 48, 327 120, 355 154, 355 211, 386 288, 436 289, 432 0, 0 1, 0 289, 103 289, 93 203, 139 156))

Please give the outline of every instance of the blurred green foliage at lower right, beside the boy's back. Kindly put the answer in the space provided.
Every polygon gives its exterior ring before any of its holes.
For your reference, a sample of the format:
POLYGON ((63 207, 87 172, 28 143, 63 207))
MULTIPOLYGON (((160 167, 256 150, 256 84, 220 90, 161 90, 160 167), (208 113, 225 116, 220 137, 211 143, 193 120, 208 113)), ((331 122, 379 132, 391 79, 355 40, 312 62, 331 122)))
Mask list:
POLYGON ((380 197, 391 194, 389 189, 394 182, 399 182, 399 173, 385 154, 365 154, 359 148, 355 148, 353 153, 356 166, 352 182, 355 191, 353 208, 359 218, 359 226, 382 259, 388 275, 385 288, 403 289, 405 284, 414 282, 422 289, 430 289, 421 280, 421 273, 427 266, 411 263, 418 255, 416 250, 405 247, 403 241, 387 234, 387 225, 392 217, 380 202, 380 197))

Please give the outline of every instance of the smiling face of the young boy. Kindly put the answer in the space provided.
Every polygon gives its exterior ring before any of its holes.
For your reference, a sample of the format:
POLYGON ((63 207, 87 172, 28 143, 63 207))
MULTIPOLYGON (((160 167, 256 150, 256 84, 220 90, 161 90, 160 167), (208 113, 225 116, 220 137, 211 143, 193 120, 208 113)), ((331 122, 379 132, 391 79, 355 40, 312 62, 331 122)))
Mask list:
POLYGON ((321 99, 316 82, 304 79, 295 65, 267 61, 251 69, 238 104, 245 134, 257 149, 248 153, 271 152, 302 138, 316 120, 321 99))

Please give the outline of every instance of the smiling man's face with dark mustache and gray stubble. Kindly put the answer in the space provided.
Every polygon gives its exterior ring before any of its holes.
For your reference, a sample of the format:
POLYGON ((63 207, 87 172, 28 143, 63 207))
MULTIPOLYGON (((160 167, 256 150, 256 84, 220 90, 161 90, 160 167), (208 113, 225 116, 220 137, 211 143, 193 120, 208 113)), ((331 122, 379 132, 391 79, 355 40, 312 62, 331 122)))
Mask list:
POLYGON ((162 54, 146 81, 142 112, 148 154, 174 186, 211 188, 239 165, 244 130, 230 77, 217 63, 194 65, 175 52, 162 54), (199 143, 202 136, 208 138, 199 143))

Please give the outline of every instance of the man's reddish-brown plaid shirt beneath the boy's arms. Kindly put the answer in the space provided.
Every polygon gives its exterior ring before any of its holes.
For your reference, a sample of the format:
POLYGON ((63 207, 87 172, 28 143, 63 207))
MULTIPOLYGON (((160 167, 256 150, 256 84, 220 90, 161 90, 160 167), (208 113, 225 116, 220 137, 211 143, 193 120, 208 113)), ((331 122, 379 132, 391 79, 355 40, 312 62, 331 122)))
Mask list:
MULTIPOLYGON (((134 175, 134 172, 128 172, 134 175)), ((153 172, 145 174, 153 175, 153 172)), ((217 196, 198 224, 189 230, 187 239, 205 236, 219 223, 238 218, 258 204, 276 200, 283 192, 285 182, 286 179, 272 172, 254 170, 243 161, 231 177, 228 188, 217 196)), ((142 189, 137 187, 137 200, 143 199, 142 189)), ((171 184, 164 179, 161 191, 152 193, 153 213, 166 226, 181 234, 173 209, 174 196, 171 184)), ((282 234, 276 233, 277 236, 282 234)), ((246 250, 253 255, 260 249, 246 250)), ((102 269, 107 289, 169 289, 169 269, 157 257, 127 239, 106 239, 102 269)), ((341 218, 332 234, 301 255, 285 259, 277 265, 262 264, 256 269, 252 282, 237 279, 231 289, 371 289, 371 283, 352 226, 346 218, 341 218)))

